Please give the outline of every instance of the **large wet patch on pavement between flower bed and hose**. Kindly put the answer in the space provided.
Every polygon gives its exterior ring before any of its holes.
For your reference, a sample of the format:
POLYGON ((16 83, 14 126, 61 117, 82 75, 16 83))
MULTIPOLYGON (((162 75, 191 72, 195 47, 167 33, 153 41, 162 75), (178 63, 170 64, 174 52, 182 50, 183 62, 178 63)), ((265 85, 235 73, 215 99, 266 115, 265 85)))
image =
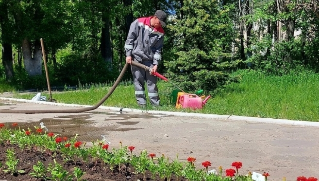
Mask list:
MULTIPOLYGON (((131 126, 140 123, 140 121, 127 121, 132 118, 139 119, 150 119, 158 117, 168 117, 167 115, 160 114, 120 114, 120 113, 110 113, 110 112, 92 112, 88 114, 77 114, 77 115, 67 115, 67 116, 55 116, 53 118, 43 118, 36 122, 17 122, 21 129, 27 130, 28 127, 35 132, 35 127, 41 127, 40 123, 43 123, 45 127, 48 128, 48 132, 53 132, 59 136, 66 136, 67 138, 73 138, 76 134, 78 141, 92 142, 97 140, 102 140, 101 135, 106 135, 109 131, 130 131, 142 128, 134 127, 119 127, 121 125, 131 126), (95 127, 94 121, 89 120, 92 118, 92 114, 106 114, 107 118, 105 121, 116 120, 118 126, 105 126, 105 127, 95 127), (121 121, 124 120, 124 121, 121 121)), ((11 129, 16 129, 17 127, 12 126, 12 122, 4 123, 6 127, 11 129)), ((45 131, 45 128, 43 132, 45 131)))

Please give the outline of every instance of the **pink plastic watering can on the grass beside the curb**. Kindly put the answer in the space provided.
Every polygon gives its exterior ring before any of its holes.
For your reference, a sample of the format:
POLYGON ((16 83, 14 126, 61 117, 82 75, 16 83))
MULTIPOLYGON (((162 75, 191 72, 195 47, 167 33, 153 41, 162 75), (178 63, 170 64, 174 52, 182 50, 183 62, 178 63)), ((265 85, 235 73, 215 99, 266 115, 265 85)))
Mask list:
POLYGON ((207 100, 211 96, 207 96, 204 100, 196 94, 185 94, 180 97, 180 104, 182 108, 202 109, 207 100))

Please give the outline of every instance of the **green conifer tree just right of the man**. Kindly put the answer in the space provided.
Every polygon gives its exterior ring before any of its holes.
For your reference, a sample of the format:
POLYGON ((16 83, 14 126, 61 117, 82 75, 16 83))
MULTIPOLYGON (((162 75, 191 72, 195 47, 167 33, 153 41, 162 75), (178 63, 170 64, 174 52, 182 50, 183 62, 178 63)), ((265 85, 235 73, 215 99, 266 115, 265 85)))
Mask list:
POLYGON ((238 77, 227 73, 240 60, 231 59, 232 42, 236 37, 230 18, 232 5, 218 5, 217 0, 184 0, 183 18, 174 18, 176 55, 165 61, 168 77, 185 90, 216 90, 238 77), (176 59, 175 59, 176 58, 176 59))

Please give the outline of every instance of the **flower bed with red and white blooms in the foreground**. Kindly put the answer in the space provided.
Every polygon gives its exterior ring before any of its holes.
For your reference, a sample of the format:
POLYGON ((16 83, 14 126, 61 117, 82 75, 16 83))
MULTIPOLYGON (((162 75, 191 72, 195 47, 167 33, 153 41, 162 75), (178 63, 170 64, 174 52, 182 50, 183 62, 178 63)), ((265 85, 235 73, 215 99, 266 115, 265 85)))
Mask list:
MULTIPOLYGON (((0 124, 0 180, 7 181, 252 181, 252 174, 238 174, 242 163, 234 162, 229 169, 210 170, 209 161, 202 168, 194 165, 196 158, 187 162, 174 161, 164 154, 143 150, 134 154, 134 146, 110 148, 102 141, 93 146, 74 138, 68 139, 39 127, 28 130, 7 129, 0 124)), ((243 173, 244 174, 244 173, 243 173)), ((263 174, 265 180, 269 173, 263 174)), ((256 180, 256 179, 254 179, 256 180)), ((299 177, 297 181, 317 181, 316 178, 299 177)))

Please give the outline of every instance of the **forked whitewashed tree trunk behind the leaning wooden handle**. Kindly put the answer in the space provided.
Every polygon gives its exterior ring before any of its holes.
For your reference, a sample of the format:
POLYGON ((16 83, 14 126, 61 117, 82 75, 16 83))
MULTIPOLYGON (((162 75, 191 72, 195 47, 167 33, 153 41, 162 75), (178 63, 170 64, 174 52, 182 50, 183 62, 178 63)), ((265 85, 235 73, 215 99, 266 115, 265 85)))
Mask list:
POLYGON ((24 69, 28 72, 29 76, 42 74, 42 50, 40 40, 34 41, 34 50, 32 57, 32 49, 30 42, 27 38, 22 41, 22 54, 24 69))

